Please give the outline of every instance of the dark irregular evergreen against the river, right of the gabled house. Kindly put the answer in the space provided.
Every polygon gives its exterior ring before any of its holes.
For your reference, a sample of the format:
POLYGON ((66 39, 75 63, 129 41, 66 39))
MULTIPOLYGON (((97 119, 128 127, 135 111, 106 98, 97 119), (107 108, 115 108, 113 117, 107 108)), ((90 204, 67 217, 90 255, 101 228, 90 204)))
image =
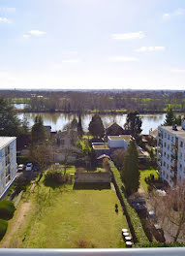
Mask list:
POLYGON ((127 114, 126 123, 124 125, 126 130, 131 132, 131 136, 137 139, 141 133, 142 120, 139 117, 139 111, 131 111, 127 114))

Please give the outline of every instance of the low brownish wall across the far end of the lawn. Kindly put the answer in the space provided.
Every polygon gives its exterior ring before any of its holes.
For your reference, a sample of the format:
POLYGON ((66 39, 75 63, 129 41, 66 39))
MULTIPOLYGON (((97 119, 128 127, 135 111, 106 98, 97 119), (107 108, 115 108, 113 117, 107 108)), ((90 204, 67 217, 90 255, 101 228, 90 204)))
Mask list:
POLYGON ((111 174, 108 172, 105 173, 95 173, 95 172, 85 172, 85 173, 76 173, 75 182, 81 183, 109 183, 111 180, 111 174))

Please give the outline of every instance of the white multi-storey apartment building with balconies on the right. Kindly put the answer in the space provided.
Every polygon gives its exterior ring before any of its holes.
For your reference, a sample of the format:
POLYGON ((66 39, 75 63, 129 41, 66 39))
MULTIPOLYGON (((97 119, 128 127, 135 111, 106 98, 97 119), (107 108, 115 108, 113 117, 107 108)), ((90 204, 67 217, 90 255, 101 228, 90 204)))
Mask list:
POLYGON ((185 179, 185 120, 182 126, 158 127, 158 171, 172 187, 185 179))

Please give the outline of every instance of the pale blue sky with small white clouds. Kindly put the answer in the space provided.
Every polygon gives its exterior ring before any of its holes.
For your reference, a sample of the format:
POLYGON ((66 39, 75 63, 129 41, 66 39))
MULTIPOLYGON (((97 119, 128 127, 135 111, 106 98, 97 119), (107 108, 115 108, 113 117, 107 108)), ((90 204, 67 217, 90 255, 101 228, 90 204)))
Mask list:
POLYGON ((185 90, 184 0, 0 0, 0 89, 185 90))

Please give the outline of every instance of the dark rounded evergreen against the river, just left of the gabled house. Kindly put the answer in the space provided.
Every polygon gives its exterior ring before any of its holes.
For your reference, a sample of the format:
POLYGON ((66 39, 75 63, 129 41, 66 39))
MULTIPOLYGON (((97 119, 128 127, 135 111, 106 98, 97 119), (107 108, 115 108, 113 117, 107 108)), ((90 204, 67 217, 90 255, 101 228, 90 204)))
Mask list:
POLYGON ((89 132, 91 135, 95 137, 104 137, 105 128, 102 122, 102 119, 99 114, 95 114, 92 116, 92 120, 89 123, 89 132))

